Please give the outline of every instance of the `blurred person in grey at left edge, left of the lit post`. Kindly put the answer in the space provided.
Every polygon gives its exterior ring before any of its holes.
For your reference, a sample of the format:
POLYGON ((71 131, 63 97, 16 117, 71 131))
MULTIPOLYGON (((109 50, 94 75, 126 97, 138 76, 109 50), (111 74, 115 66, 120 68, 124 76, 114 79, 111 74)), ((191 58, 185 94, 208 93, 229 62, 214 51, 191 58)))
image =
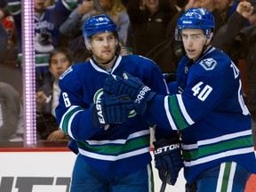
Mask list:
POLYGON ((23 138, 20 93, 11 84, 0 82, 0 141, 21 141, 23 138))

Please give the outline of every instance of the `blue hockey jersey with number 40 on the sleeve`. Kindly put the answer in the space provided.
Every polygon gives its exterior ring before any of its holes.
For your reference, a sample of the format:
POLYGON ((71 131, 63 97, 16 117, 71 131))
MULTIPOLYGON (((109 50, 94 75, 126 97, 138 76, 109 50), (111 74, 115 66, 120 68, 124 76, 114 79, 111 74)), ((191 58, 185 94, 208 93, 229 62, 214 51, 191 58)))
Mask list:
POLYGON ((230 161, 256 173, 251 115, 244 105, 240 72, 232 60, 214 47, 195 63, 185 56, 175 84, 175 90, 170 90, 175 94, 152 100, 148 118, 180 130, 186 180, 196 180, 204 170, 230 161))

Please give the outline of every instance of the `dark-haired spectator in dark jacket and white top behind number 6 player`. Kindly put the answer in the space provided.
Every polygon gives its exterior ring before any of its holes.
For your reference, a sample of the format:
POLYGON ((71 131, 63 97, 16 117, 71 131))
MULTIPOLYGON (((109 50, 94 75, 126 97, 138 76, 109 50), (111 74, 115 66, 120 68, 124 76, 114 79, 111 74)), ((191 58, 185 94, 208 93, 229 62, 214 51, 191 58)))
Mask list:
POLYGON ((38 140, 62 140, 65 133, 59 128, 55 117, 60 95, 59 78, 73 63, 71 52, 58 47, 50 53, 49 70, 52 81, 39 87, 36 92, 36 132, 38 140))

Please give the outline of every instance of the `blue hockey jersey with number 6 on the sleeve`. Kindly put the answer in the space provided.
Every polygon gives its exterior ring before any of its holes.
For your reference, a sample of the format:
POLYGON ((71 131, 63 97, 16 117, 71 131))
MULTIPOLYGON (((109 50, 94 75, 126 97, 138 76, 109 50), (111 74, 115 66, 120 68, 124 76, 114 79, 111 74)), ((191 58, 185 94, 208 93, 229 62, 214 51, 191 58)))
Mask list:
POLYGON ((134 172, 151 161, 148 122, 142 116, 110 124, 108 130, 92 127, 90 107, 102 96, 104 80, 109 74, 122 76, 124 71, 139 77, 155 92, 167 94, 156 63, 136 55, 118 56, 111 72, 89 60, 71 66, 60 76, 60 104, 56 108, 60 128, 76 140, 86 163, 104 175, 134 172))

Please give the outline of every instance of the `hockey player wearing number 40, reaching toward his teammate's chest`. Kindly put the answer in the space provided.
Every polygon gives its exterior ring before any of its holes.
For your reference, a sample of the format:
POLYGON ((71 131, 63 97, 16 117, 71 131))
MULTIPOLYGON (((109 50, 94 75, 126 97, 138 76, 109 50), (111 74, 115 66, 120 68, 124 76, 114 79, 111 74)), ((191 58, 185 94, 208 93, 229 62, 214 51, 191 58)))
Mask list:
POLYGON ((187 55, 180 60, 177 81, 168 84, 171 95, 156 94, 127 73, 124 79, 108 76, 103 90, 116 95, 125 90, 138 103, 137 113, 181 132, 188 186, 199 192, 244 191, 256 173, 251 116, 239 70, 211 45, 214 27, 212 13, 204 8, 189 9, 178 20, 176 37, 187 55))

